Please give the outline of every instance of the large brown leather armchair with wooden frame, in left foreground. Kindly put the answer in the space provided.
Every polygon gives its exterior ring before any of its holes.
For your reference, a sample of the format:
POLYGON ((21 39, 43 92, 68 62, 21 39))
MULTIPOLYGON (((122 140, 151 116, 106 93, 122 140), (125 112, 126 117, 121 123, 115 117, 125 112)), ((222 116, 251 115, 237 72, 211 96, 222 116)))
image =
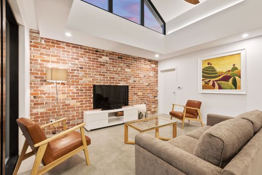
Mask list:
POLYGON ((35 160, 31 175, 42 175, 82 150, 84 151, 86 164, 89 165, 87 145, 90 145, 91 140, 84 135, 84 123, 67 130, 66 118, 45 124, 41 127, 27 118, 19 118, 16 122, 26 140, 13 175, 17 174, 21 162, 33 155, 35 155, 35 160), (42 129, 55 123, 63 123, 64 131, 51 138, 47 138, 42 129), (74 131, 79 128, 81 133, 74 131), (32 152, 26 154, 28 146, 31 147, 32 152), (44 167, 39 168, 41 162, 44 167))

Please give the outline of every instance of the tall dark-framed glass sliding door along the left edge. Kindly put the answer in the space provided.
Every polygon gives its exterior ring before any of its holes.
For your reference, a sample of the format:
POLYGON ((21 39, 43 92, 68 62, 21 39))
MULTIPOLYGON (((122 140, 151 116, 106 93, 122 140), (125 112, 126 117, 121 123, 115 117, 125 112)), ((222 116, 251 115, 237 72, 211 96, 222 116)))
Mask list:
POLYGON ((12 175, 18 157, 18 24, 5 1, 5 175, 12 175))

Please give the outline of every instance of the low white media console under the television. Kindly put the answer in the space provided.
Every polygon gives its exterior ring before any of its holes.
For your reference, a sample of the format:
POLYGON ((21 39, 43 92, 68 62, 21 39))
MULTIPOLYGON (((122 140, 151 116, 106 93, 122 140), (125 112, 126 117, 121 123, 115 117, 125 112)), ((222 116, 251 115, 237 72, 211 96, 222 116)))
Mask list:
POLYGON ((138 109, 134 106, 127 106, 120 109, 113 110, 91 110, 84 111, 84 128, 90 131, 91 129, 97 129, 106 126, 112 126, 115 124, 121 124, 137 120, 138 109), (124 115, 116 117, 115 113, 123 111, 124 115))

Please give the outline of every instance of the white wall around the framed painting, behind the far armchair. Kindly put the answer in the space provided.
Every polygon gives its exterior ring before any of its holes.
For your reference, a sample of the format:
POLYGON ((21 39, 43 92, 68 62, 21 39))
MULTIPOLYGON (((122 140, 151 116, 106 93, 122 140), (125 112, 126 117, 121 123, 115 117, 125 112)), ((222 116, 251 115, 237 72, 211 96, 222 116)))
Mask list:
MULTIPOLYGON (((183 89, 177 90, 176 103, 185 105, 188 99, 201 101, 201 114, 203 121, 206 122, 208 113, 235 117, 248 110, 262 110, 261 65, 262 36, 259 36, 159 61, 159 71, 177 67, 178 86, 182 86, 183 89), (198 93, 198 58, 243 48, 246 48, 247 94, 198 93)), ((159 87, 161 81, 159 76, 159 87)), ((162 103, 162 96, 159 94, 159 113, 162 113, 162 103)))

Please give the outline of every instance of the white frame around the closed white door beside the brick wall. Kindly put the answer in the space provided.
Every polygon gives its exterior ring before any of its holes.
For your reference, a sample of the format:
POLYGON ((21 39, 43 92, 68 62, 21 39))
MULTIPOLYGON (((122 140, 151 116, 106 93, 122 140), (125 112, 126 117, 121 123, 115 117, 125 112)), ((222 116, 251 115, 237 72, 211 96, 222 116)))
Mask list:
MULTIPOLYGON (((177 80, 177 85, 178 85, 178 68, 177 66, 175 67, 171 67, 171 68, 167 68, 167 69, 162 69, 159 70, 158 74, 159 74, 159 102, 158 102, 158 113, 159 114, 163 114, 163 73, 164 72, 168 72, 168 71, 175 71, 175 78, 177 80)), ((177 87, 176 87, 176 92, 177 92, 177 87)), ((170 110, 171 110, 172 106, 170 104, 170 110)))

